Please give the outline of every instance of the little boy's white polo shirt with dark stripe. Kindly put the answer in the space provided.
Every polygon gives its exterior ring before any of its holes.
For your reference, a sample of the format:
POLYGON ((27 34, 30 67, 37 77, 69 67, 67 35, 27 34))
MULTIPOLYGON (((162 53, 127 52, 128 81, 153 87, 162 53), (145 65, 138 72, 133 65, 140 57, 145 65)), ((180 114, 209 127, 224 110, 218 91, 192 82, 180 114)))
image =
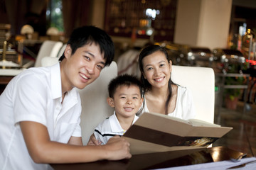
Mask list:
MULTIPOLYGON (((134 124, 138 118, 139 117, 135 115, 132 124, 134 124)), ((103 120, 102 123, 97 125, 94 135, 97 140, 100 140, 102 142, 102 145, 105 145, 111 137, 113 137, 114 135, 122 136, 124 135, 124 132, 125 130, 122 129, 117 119, 117 115, 114 111, 113 115, 111 115, 109 118, 106 118, 105 120, 103 120)))

